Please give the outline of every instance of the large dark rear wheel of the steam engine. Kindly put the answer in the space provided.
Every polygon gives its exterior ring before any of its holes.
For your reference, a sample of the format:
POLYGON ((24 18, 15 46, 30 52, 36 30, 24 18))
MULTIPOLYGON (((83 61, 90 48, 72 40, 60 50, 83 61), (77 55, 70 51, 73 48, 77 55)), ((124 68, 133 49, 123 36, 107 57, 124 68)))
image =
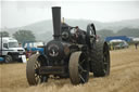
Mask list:
POLYGON ((104 77, 110 75, 110 51, 106 42, 98 42, 91 53, 91 67, 94 77, 104 77))

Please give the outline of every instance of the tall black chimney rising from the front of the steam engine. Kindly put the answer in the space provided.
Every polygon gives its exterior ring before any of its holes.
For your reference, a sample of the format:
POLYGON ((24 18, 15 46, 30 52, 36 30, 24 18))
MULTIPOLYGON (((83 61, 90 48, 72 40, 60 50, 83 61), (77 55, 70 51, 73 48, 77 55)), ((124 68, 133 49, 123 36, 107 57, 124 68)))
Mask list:
POLYGON ((52 8, 53 37, 61 40, 61 6, 52 8))

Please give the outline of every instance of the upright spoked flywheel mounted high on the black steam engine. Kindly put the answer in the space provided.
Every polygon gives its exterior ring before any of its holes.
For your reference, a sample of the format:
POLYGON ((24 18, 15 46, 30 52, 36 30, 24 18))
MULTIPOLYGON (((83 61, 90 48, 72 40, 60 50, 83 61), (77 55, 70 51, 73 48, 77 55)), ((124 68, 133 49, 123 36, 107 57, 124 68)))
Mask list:
POLYGON ((93 44, 96 43, 96 27, 93 24, 89 24, 87 26, 86 42, 90 49, 92 49, 93 44))

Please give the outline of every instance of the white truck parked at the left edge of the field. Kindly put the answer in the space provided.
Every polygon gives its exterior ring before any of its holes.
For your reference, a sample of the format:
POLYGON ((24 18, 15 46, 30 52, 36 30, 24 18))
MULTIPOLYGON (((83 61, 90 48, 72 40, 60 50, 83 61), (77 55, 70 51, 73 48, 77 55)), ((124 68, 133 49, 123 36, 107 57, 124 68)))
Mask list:
POLYGON ((25 50, 18 47, 16 39, 10 37, 0 38, 0 56, 4 58, 5 63, 23 62, 23 55, 25 55, 25 50))

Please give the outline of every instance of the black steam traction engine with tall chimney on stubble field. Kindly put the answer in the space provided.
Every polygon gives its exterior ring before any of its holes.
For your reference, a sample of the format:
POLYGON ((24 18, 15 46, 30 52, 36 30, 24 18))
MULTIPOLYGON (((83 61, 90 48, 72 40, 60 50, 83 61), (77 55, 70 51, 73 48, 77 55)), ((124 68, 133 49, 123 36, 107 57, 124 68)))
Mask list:
POLYGON ((106 42, 97 39, 93 24, 87 31, 61 23, 61 8, 52 8, 53 40, 45 47, 45 54, 34 54, 26 66, 30 86, 47 82, 50 75, 70 78, 73 84, 86 83, 89 73, 94 77, 110 74, 110 52, 106 42))

